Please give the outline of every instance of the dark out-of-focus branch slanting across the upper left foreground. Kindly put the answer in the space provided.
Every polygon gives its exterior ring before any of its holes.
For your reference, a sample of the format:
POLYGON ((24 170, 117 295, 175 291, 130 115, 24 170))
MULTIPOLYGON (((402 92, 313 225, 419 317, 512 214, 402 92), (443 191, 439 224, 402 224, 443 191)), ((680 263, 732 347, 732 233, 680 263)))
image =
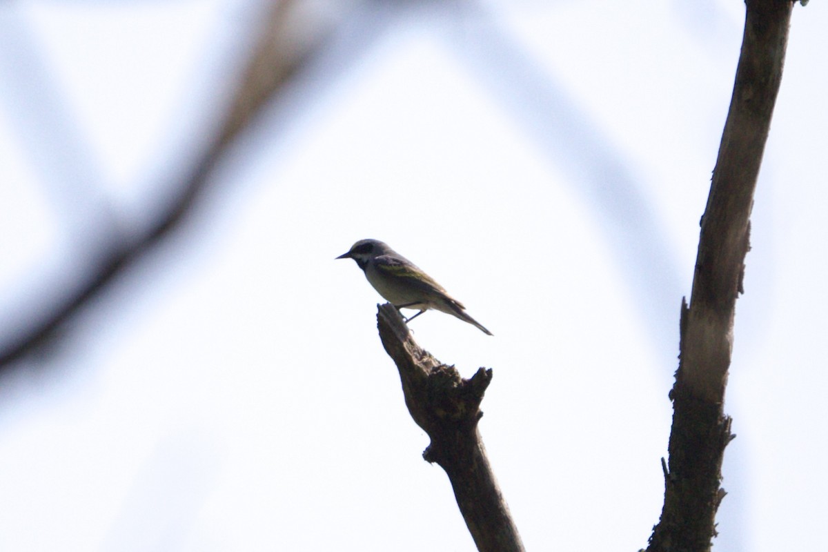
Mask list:
POLYGON ((205 151, 185 176, 178 193, 164 205, 156 222, 140 235, 108 244, 108 250, 99 255, 99 262, 89 267, 89 276, 76 283, 64 300, 52 306, 52 310, 41 316, 22 333, 14 335, 0 345, 0 369, 30 353, 48 342, 67 320, 98 295, 124 269, 131 266, 144 252, 160 242, 162 238, 178 228, 190 212, 196 200, 205 189, 209 175, 223 156, 233 138, 258 113, 262 105, 271 98, 282 84, 294 74, 308 55, 307 50, 299 51, 286 33, 287 12, 295 0, 275 0, 264 17, 261 34, 250 57, 243 78, 233 95, 224 121, 219 125, 205 151))

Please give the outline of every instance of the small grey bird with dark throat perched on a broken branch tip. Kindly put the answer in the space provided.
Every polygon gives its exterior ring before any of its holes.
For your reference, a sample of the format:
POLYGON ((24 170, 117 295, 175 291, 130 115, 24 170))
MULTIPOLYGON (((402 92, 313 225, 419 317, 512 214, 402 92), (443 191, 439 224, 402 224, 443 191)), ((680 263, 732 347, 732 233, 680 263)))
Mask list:
POLYGON ((397 309, 419 309, 406 322, 428 309, 436 309, 477 326, 484 334, 493 335, 482 324, 465 312, 465 306, 451 297, 436 281, 421 269, 394 251, 385 242, 364 239, 354 243, 350 251, 336 257, 354 259, 363 269, 373 289, 383 295, 397 309))

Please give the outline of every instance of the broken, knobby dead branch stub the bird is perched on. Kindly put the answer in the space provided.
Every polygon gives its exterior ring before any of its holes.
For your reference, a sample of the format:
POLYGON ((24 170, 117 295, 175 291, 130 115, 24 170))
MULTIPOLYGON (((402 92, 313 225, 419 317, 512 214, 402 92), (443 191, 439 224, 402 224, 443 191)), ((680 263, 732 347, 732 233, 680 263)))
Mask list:
POLYGON ((391 304, 379 307, 377 321, 383 347, 400 372, 408 411, 431 438, 423 458, 448 474, 474 544, 480 552, 522 552, 477 429, 491 368, 480 368, 468 380, 461 378, 455 367, 440 363, 416 344, 391 304))

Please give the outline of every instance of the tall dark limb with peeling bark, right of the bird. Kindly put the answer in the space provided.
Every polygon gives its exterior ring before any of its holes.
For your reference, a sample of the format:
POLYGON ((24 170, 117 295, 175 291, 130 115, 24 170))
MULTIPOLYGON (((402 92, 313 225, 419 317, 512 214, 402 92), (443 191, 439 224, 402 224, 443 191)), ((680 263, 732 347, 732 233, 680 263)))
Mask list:
POLYGON ((747 0, 733 96, 701 221, 691 303, 681 305, 681 362, 671 392, 673 425, 661 520, 649 552, 710 550, 724 447, 736 299, 749 250, 750 212, 782 81, 792 2, 747 0))

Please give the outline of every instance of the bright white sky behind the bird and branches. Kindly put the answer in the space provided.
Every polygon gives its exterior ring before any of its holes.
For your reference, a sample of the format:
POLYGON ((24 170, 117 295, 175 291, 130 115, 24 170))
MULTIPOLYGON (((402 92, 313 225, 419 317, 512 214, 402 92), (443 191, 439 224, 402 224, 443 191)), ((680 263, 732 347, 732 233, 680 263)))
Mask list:
MULTIPOLYGON (((0 380, 0 550, 474 550, 421 459, 380 298, 333 260, 359 238, 495 334, 412 322, 466 377, 493 368, 480 430, 527 550, 646 545, 744 6, 506 3, 498 27, 412 9, 344 32, 364 34, 359 57, 289 90, 185 232, 59 354, 0 380), (498 58, 504 36, 525 65, 498 58), (522 95, 526 72, 544 78, 522 95)), ((0 8, 3 324, 32 282, 79 270, 75 239, 146 222, 254 17, 218 0, 0 8), (40 60, 65 127, 31 121, 50 90, 21 94, 19 60, 40 60)), ((826 28, 825 2, 795 7, 737 305, 718 550, 824 541, 826 28)))

